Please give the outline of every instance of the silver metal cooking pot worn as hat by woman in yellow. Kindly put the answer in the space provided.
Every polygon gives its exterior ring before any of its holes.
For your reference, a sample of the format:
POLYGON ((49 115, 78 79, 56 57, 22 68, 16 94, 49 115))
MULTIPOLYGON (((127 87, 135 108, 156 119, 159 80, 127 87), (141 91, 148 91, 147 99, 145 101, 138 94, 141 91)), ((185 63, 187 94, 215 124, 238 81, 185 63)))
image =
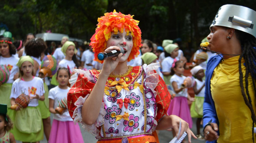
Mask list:
POLYGON ((248 7, 227 4, 219 8, 212 26, 225 26, 244 31, 256 38, 256 12, 248 7))

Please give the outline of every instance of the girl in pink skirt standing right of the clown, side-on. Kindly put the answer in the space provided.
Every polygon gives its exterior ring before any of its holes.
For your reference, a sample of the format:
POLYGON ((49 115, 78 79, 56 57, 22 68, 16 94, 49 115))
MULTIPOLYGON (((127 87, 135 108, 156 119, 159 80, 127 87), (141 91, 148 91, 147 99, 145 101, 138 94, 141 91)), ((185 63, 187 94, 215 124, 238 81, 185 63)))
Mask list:
MULTIPOLYGON (((187 100, 194 101, 187 92, 186 85, 183 85, 183 81, 186 78, 184 74, 184 62, 177 61, 172 64, 170 83, 176 93, 176 96, 171 100, 171 104, 167 110, 168 115, 177 115, 189 124, 189 128, 192 128, 192 118, 188 107, 187 100)), ((173 132, 174 133, 174 132, 173 132)))

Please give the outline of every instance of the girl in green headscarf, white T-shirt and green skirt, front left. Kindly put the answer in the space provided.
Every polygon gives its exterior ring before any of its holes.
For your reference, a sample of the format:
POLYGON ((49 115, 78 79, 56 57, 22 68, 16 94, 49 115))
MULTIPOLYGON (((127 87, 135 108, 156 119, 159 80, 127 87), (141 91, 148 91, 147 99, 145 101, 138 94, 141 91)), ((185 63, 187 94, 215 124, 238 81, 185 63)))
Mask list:
POLYGON ((22 142, 39 142, 44 139, 44 127, 38 107, 38 100, 44 101, 44 82, 34 76, 33 65, 30 56, 20 57, 17 63, 20 78, 13 82, 10 96, 11 105, 16 104, 15 99, 22 93, 30 97, 28 107, 16 107, 14 127, 11 131, 15 139, 22 142))

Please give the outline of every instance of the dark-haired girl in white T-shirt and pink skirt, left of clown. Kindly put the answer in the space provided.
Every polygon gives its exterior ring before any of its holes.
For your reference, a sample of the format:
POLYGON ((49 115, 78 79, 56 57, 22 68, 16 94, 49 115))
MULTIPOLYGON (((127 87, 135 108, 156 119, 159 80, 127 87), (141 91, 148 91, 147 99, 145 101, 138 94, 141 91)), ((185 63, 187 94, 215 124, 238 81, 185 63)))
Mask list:
POLYGON ((57 71, 57 81, 59 85, 49 91, 49 110, 54 113, 49 143, 84 143, 79 125, 74 125, 67 107, 67 93, 69 87, 70 72, 66 68, 59 68, 57 71), (59 114, 55 111, 57 107, 64 107, 64 112, 59 114))

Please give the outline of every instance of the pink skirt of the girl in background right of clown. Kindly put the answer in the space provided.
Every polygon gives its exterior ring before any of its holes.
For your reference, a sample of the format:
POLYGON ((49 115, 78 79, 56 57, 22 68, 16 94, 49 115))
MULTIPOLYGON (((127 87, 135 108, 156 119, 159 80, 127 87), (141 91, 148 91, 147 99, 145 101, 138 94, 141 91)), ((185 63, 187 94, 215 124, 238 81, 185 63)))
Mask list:
POLYGON ((168 115, 177 115, 189 124, 192 128, 193 121, 186 97, 175 97, 171 100, 170 106, 167 110, 168 115))

